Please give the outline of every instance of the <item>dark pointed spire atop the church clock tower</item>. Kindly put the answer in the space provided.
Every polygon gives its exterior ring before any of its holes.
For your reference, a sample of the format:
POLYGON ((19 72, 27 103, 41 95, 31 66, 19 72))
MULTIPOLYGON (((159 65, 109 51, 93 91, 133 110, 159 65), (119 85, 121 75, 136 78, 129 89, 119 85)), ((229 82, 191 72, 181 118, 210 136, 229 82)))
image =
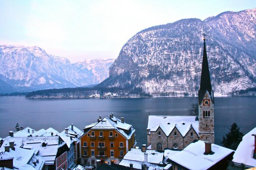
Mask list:
POLYGON ((204 97, 206 90, 212 96, 211 78, 210 78, 210 72, 209 72, 209 66, 208 66, 208 59, 207 59, 206 45, 205 45, 205 35, 204 35, 203 63, 202 63, 200 89, 198 91, 198 104, 202 102, 202 99, 204 97))

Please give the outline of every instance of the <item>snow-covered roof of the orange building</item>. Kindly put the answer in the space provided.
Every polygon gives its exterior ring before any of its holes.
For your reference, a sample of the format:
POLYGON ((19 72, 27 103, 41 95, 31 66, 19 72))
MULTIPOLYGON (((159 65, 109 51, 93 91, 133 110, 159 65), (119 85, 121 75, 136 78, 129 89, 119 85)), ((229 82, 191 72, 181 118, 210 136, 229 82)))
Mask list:
POLYGON ((135 129, 132 128, 132 125, 127 123, 122 123, 120 119, 117 119, 113 116, 113 118, 107 117, 103 118, 98 123, 92 123, 84 127, 84 129, 91 128, 91 129, 116 129, 120 134, 125 136, 125 138, 131 138, 132 134, 135 132, 135 129))

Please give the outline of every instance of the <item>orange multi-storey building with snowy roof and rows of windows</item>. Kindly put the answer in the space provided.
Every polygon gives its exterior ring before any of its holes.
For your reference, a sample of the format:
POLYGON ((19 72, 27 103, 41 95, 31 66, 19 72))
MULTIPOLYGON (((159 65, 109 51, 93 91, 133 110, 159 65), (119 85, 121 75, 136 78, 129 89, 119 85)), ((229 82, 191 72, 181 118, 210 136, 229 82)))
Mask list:
POLYGON ((105 163, 119 163, 124 155, 136 145, 132 125, 113 116, 113 113, 98 122, 84 127, 80 140, 82 165, 96 165, 97 159, 105 163))

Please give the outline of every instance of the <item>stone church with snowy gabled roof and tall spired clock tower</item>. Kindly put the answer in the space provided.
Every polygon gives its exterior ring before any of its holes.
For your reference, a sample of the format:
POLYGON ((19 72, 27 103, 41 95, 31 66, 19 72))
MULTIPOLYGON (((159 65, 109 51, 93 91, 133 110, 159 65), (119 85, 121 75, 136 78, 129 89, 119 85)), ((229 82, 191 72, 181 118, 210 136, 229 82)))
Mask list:
POLYGON ((195 139, 214 143, 214 94, 205 38, 198 107, 199 116, 148 116, 148 149, 183 149, 195 139))

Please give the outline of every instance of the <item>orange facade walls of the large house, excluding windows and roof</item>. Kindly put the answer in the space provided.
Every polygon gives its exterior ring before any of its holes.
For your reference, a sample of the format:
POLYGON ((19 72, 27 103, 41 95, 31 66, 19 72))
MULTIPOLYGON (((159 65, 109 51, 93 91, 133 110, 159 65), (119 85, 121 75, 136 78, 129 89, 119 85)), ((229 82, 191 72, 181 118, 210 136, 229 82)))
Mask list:
POLYGON ((87 164, 91 165, 91 159, 95 159, 95 164, 97 159, 104 159, 105 163, 111 164, 111 161, 114 161, 114 163, 119 163, 119 161, 123 158, 123 156, 120 156, 120 151, 123 151, 123 155, 125 155, 128 150, 130 150, 135 142, 135 136, 134 134, 130 139, 126 139, 123 135, 121 135, 118 131, 115 129, 111 130, 95 130, 91 129, 86 134, 82 136, 80 139, 81 142, 81 163, 82 165, 85 164, 84 161, 87 160, 87 164), (91 136, 91 132, 94 132, 95 139, 93 139, 91 136), (103 132, 104 139, 99 139, 99 132, 103 132), (109 139, 109 132, 113 132, 113 139, 109 139), (88 136, 90 134, 90 136, 88 136), (117 134, 117 137, 115 136, 117 134), (84 147, 84 142, 87 142, 87 147, 84 147), (94 147, 91 147, 91 142, 94 142, 94 147), (105 146, 105 157, 100 157, 99 151, 102 150, 102 148, 98 148, 99 142, 104 142, 105 146), (114 147, 110 147, 110 142, 114 143, 114 147), (123 147, 120 147, 120 142, 123 142, 123 147), (127 149, 128 148, 128 149, 127 149), (84 150, 87 151, 87 155, 84 155, 84 150), (95 155, 91 155, 91 151, 94 150, 95 155), (110 156, 110 151, 114 151, 114 156, 110 156))

